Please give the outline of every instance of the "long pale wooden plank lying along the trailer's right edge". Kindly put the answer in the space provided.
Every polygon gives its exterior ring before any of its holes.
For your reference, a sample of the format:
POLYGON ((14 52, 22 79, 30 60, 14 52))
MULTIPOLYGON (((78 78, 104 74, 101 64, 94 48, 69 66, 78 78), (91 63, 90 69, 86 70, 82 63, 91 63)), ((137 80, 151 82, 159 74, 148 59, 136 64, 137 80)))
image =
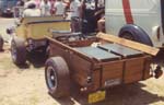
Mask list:
POLYGON ((113 43, 117 43, 119 45, 130 47, 130 48, 147 52, 147 54, 152 55, 152 56, 156 56, 156 54, 160 51, 160 49, 157 49, 155 47, 150 47, 150 46, 144 45, 144 44, 140 44, 140 43, 137 43, 137 42, 120 38, 120 37, 117 37, 115 35, 98 33, 96 36, 98 38, 102 38, 102 39, 105 39, 105 40, 108 40, 108 42, 113 42, 113 43))

